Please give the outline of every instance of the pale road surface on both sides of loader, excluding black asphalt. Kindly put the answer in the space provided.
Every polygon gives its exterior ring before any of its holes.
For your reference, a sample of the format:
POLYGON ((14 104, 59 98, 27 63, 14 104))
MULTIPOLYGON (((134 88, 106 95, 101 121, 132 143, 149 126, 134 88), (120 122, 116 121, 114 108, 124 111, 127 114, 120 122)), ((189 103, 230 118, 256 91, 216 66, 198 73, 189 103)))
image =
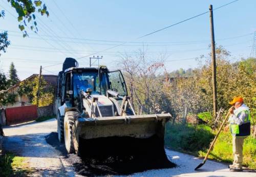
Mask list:
MULTIPOLYGON (((75 168, 66 161, 65 154, 58 146, 47 143, 45 136, 56 132, 56 120, 51 119, 40 123, 28 123, 4 128, 7 138, 4 148, 18 156, 26 157, 29 168, 35 172, 32 176, 79 176, 75 168)), ((56 139, 57 141, 57 139, 56 139)), ((63 147, 62 147, 63 149, 63 147)), ((207 161, 199 171, 194 168, 202 162, 194 156, 166 149, 168 158, 176 163, 176 168, 148 170, 129 176, 246 176, 256 177, 255 171, 230 172, 226 164, 207 161)))

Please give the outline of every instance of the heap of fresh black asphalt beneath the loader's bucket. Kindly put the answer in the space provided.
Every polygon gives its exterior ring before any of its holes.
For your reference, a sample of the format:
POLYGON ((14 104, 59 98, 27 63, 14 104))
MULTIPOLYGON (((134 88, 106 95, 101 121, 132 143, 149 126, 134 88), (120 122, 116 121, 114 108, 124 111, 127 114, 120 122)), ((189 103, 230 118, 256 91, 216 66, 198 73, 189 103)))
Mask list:
POLYGON ((46 141, 61 151, 66 160, 72 164, 77 174, 95 175, 129 175, 150 169, 173 168, 165 150, 157 137, 136 139, 131 137, 98 138, 79 140, 80 157, 67 154, 64 144, 58 142, 57 133, 46 136, 46 141))

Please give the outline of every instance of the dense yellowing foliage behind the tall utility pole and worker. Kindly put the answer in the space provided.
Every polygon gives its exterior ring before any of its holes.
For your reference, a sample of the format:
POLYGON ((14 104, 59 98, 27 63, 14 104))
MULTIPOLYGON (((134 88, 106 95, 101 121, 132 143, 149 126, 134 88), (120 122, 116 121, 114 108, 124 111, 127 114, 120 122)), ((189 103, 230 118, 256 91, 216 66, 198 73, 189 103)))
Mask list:
MULTIPOLYGON (((209 55, 210 56, 210 55, 209 55)), ((252 122, 255 123, 256 100, 256 59, 242 59, 239 62, 229 61, 230 53, 218 46, 216 48, 217 64, 217 100, 218 108, 228 110, 228 104, 234 96, 242 96, 250 108, 252 122)), ((199 68, 193 69, 186 78, 175 78, 164 83, 168 99, 177 114, 184 108, 189 113, 211 112, 212 110, 212 72, 210 57, 199 68)), ((176 72, 176 71, 175 71, 176 72)), ((212 118, 212 117, 211 117, 212 118)), ((214 122, 207 120, 209 124, 214 122)))

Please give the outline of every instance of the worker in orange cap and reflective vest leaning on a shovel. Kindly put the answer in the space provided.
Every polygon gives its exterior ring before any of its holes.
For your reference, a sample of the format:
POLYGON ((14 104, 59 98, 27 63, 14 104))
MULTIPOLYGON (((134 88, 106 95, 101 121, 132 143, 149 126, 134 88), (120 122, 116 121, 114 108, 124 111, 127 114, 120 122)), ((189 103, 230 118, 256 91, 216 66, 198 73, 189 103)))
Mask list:
POLYGON ((243 171, 243 143, 244 139, 250 135, 250 111, 244 104, 242 97, 234 97, 232 105, 228 111, 230 113, 225 131, 230 129, 233 144, 233 164, 229 165, 230 171, 243 171))

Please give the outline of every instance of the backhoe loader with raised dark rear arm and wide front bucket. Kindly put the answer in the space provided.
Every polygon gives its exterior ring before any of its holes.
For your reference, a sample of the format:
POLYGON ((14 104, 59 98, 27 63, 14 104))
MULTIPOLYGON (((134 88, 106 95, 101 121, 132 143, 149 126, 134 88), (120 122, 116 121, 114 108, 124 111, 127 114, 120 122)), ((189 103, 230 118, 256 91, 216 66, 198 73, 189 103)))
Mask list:
POLYGON ((58 140, 86 157, 165 156, 169 113, 137 115, 120 70, 78 67, 67 58, 56 91, 58 140))

